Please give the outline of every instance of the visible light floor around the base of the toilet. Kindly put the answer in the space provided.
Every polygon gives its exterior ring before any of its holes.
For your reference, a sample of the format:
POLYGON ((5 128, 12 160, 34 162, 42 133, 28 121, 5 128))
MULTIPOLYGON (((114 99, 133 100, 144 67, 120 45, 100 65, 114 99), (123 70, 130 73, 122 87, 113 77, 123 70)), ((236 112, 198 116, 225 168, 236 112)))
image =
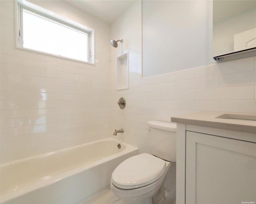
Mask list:
MULTIPOLYGON (((175 204, 170 198, 168 190, 165 192, 166 203, 175 204)), ((110 190, 110 188, 98 192, 93 198, 86 201, 84 204, 123 204, 123 201, 117 198, 110 190)))

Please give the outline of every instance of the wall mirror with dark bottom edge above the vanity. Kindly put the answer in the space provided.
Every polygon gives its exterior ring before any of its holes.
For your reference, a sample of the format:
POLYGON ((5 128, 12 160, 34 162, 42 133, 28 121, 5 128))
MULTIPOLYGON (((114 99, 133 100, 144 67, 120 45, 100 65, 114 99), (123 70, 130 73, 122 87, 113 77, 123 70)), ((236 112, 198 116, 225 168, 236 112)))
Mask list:
POLYGON ((256 52, 256 1, 213 1, 212 48, 214 59, 256 52))

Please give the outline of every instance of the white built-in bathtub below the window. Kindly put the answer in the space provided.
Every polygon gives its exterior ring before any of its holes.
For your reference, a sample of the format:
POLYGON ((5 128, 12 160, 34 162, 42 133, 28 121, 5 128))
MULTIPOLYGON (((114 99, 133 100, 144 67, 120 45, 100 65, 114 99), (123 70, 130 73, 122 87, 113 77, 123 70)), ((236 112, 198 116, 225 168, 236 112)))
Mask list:
POLYGON ((82 204, 110 185, 112 171, 138 148, 110 137, 4 163, 0 204, 82 204))

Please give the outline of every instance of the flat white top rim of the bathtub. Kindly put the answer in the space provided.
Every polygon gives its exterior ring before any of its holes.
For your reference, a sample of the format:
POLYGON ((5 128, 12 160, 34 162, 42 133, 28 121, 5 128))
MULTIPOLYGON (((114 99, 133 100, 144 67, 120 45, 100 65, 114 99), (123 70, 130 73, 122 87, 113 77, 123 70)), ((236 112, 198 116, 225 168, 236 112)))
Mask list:
POLYGON ((68 150, 71 150, 71 149, 87 146, 87 145, 97 143, 97 142, 100 142, 100 141, 115 141, 115 142, 121 143, 122 145, 125 145, 125 149, 123 151, 120 151, 120 152, 115 153, 113 155, 110 155, 108 157, 104 157, 102 159, 93 161, 92 163, 88 163, 86 165, 83 165, 82 167, 77 167, 77 168, 71 169, 69 171, 60 173, 58 175, 54 175, 54 176, 50 177, 49 179, 41 180, 40 182, 37 182, 35 184, 25 186, 25 187, 19 189, 18 191, 15 191, 15 192, 12 191, 12 192, 7 192, 6 194, 2 194, 1 198, 0 198, 0 204, 4 204, 5 202, 8 202, 8 201, 10 201, 14 198, 17 198, 18 196, 22 196, 22 195, 28 194, 29 192, 32 192, 34 190, 44 188, 45 186, 48 186, 48 185, 53 184, 55 182, 58 182, 59 180, 65 179, 65 178, 70 177, 74 174, 78 174, 82 171, 86 171, 87 169, 90 169, 90 168, 95 167, 97 165, 100 165, 102 163, 106 163, 108 161, 111 161, 112 159, 120 157, 120 156, 122 156, 122 155, 124 155, 128 152, 138 151, 138 147, 134 147, 134 146, 129 145, 128 143, 125 143, 125 142, 121 142, 120 140, 117 140, 113 137, 108 137, 108 138, 105 138, 105 139, 99 139, 99 140, 96 140, 96 141, 83 143, 81 145, 76 145, 76 146, 67 147, 67 148, 64 148, 64 149, 59 149, 59 150, 56 150, 56 151, 51 151, 49 153, 43 153, 43 154, 39 154, 39 155, 34 155, 32 157, 26 157, 26 158, 10 161, 10 162, 7 162, 7 163, 3 163, 0 167, 2 168, 2 167, 4 167, 3 165, 6 165, 6 164, 16 164, 16 163, 21 163, 23 161, 27 161, 27 160, 30 160, 30 159, 46 157, 46 156, 56 154, 56 153, 59 153, 59 152, 62 152, 62 151, 68 151, 68 150))

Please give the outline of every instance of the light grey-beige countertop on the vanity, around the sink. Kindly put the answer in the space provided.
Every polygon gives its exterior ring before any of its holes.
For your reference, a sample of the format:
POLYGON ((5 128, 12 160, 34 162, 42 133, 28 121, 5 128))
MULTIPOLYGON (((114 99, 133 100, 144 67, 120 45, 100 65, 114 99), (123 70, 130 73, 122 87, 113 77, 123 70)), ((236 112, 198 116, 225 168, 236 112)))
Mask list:
POLYGON ((202 111, 192 114, 186 114, 181 116, 174 116, 171 118, 171 122, 204 126, 209 128, 228 129, 239 132, 248 132, 256 134, 256 120, 240 120, 240 119, 228 119, 228 118, 216 118, 223 114, 236 114, 236 115, 249 115, 256 117, 256 114, 248 113, 234 113, 234 112, 215 112, 215 111, 202 111))

